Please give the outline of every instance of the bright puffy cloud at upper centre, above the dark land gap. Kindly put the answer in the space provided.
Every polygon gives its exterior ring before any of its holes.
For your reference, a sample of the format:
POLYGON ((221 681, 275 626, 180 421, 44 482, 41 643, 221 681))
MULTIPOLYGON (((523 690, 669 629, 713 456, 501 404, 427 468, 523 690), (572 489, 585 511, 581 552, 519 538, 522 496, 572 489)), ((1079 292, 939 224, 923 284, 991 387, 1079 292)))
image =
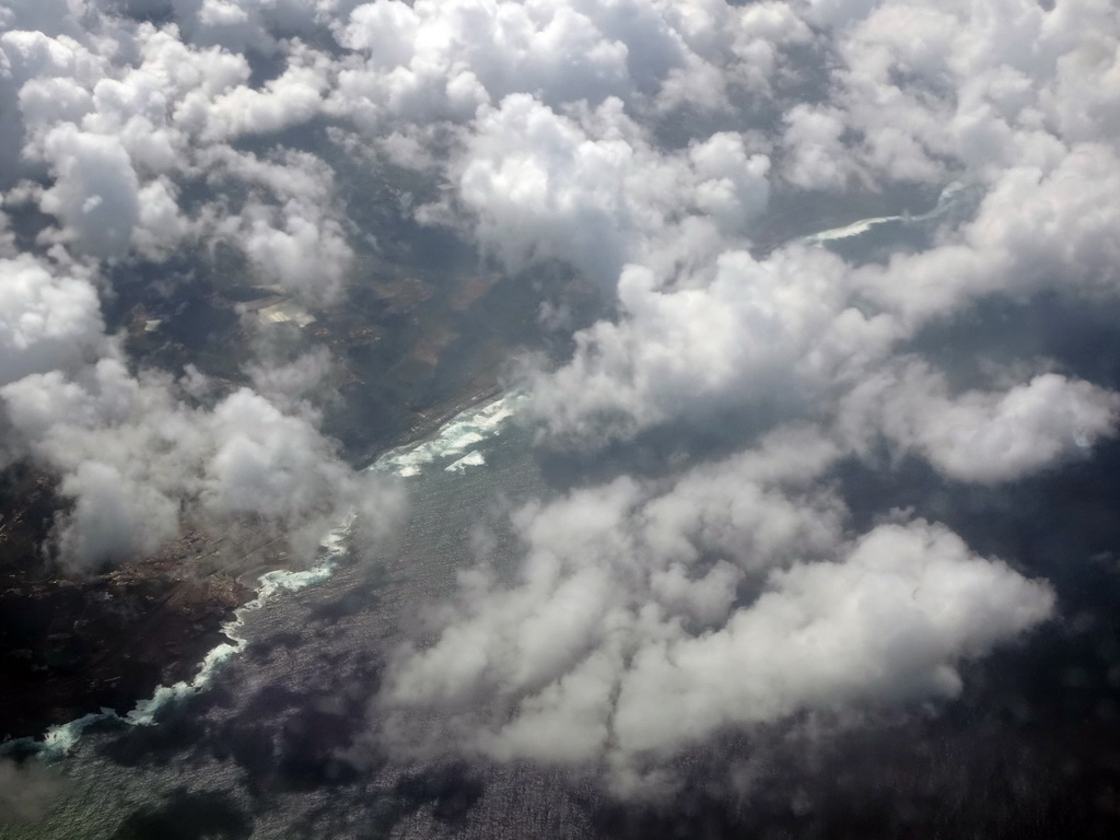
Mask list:
POLYGON ((564 115, 525 94, 482 110, 452 162, 474 237, 507 268, 564 259, 607 287, 627 262, 664 279, 722 236, 745 239, 766 208, 768 171, 738 133, 664 153, 620 100, 564 115))

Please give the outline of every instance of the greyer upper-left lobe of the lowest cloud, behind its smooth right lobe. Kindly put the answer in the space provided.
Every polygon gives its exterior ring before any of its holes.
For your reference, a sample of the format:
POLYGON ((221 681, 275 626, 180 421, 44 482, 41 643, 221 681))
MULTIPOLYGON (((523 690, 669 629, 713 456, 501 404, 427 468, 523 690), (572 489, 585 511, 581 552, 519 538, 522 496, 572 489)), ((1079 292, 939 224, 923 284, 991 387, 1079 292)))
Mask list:
POLYGON ((836 454, 811 433, 781 435, 664 489, 619 478, 523 506, 512 520, 525 545, 516 581, 503 587, 485 566, 464 573, 457 619, 401 663, 393 697, 455 704, 479 683, 535 690, 635 623, 722 620, 744 575, 839 539, 842 508, 811 487, 836 454))

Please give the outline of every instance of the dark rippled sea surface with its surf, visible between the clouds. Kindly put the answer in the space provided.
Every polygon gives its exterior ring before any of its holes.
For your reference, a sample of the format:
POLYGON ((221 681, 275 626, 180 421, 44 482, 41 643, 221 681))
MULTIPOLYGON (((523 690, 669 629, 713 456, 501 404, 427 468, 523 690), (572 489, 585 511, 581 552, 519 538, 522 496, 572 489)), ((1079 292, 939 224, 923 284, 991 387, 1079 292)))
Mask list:
MULTIPOLYGON (((892 228, 918 230, 949 212, 961 194, 946 194, 923 216, 864 220, 806 243, 875 248, 892 228)), ((190 683, 161 688, 124 719, 91 716, 50 731, 32 760, 50 768, 57 795, 43 820, 0 827, 0 839, 1040 837, 1099 816, 1105 794, 1120 814, 1120 793, 1093 786, 1111 784, 1108 762, 1120 755, 1118 739, 1102 737, 1116 730, 1120 678, 1105 684, 1066 674, 1120 674, 1116 571, 1102 562, 1074 575, 1065 563, 1120 541, 1111 513, 1090 522, 1075 493, 1060 486, 1061 498, 1072 500, 1066 511, 1047 496, 1057 492, 1051 484, 962 497, 953 507, 908 467, 893 486, 844 480, 869 512, 905 504, 940 512, 978 550, 1026 558, 1055 582, 1068 615, 1096 620, 1093 635, 1071 637, 1055 624, 1029 656, 1009 651, 967 674, 968 691, 944 713, 906 715, 823 746, 781 732, 768 745, 771 736, 749 746, 727 739, 727 750, 775 756, 768 781, 746 800, 701 782, 673 802, 635 810, 607 801, 591 781, 544 767, 384 755, 371 702, 386 656, 414 631, 422 605, 455 591, 479 524, 496 534, 500 569, 512 566, 504 512, 554 492, 533 430, 517 422, 525 399, 507 393, 380 458, 371 469, 407 483, 407 526, 360 551, 347 539, 353 523, 339 522, 317 564, 264 575, 227 627, 228 643, 190 683), (1025 521, 1039 519, 1032 505, 1046 511, 1049 543, 1024 547, 1025 521), (1114 650, 1104 651, 1102 638, 1114 650), (1024 833, 1032 825, 1040 833, 1024 833)), ((1120 491, 1120 447, 1099 460, 1074 478, 1108 497, 1120 491)))

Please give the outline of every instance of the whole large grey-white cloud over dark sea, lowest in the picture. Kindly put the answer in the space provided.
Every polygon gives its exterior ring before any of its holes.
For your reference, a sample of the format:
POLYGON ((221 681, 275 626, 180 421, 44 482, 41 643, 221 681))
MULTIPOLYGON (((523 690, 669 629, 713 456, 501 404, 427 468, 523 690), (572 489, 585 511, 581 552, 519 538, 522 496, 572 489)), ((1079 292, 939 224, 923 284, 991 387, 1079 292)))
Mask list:
POLYGON ((423 721, 437 740, 606 762, 625 792, 728 726, 955 696, 959 663, 1045 619, 1053 594, 925 521, 846 536, 815 488, 838 454, 782 433, 668 488, 619 479, 521 508, 516 579, 461 575, 446 629, 396 661, 390 729, 408 731, 402 706, 435 707, 451 712, 423 721))

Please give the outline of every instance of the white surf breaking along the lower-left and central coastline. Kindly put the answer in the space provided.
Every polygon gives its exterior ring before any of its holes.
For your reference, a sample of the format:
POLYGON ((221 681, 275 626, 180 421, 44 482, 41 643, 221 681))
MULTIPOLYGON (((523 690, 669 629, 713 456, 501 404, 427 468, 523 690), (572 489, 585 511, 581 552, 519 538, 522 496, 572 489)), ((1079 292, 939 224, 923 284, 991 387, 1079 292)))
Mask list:
MULTIPOLYGON (((482 466, 486 463, 482 452, 463 454, 470 447, 501 432, 526 399, 528 394, 513 392, 480 408, 466 409, 451 418, 433 439, 391 450, 374 461, 368 469, 391 472, 405 477, 414 476, 420 473, 420 467, 454 455, 463 457, 448 466, 447 472, 461 473, 468 467, 482 466)), ((320 547, 321 554, 318 562, 310 569, 300 571, 276 569, 258 577, 253 599, 234 610, 233 619, 222 625, 222 633, 230 641, 218 644, 206 654, 192 680, 180 681, 174 685, 157 687, 150 698, 140 700, 123 717, 112 709, 102 709, 100 712, 93 712, 77 720, 48 728, 41 741, 35 740, 35 738, 18 738, 0 744, 0 750, 21 746, 36 750, 40 757, 56 758, 66 755, 77 746, 82 734, 99 721, 116 720, 129 726, 153 726, 160 709, 179 698, 207 688, 223 663, 245 650, 249 640, 237 633, 239 628, 244 625, 245 615, 263 608, 280 592, 296 592, 330 578, 338 560, 346 553, 347 536, 353 523, 354 514, 352 513, 345 522, 328 534, 320 547)))

